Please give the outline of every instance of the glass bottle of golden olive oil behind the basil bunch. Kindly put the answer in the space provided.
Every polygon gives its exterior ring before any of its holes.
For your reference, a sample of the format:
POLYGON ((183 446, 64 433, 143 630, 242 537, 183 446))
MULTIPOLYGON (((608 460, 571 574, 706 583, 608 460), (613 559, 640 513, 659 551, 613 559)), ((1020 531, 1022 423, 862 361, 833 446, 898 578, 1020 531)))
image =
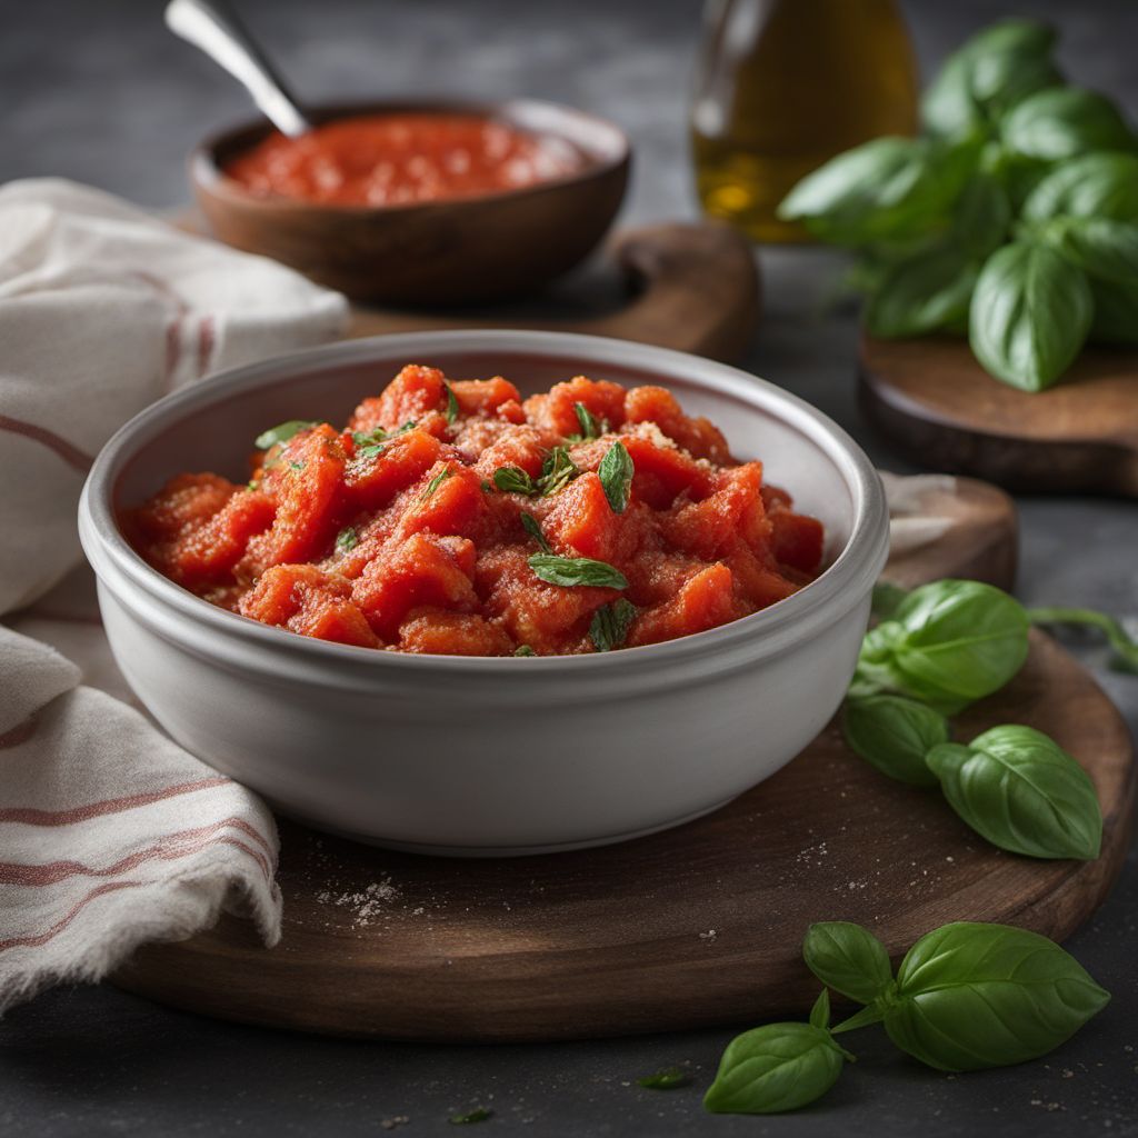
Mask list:
POLYGON ((916 126, 916 63, 893 0, 707 0, 691 122, 706 213, 758 241, 808 240, 775 216, 791 187, 916 126))

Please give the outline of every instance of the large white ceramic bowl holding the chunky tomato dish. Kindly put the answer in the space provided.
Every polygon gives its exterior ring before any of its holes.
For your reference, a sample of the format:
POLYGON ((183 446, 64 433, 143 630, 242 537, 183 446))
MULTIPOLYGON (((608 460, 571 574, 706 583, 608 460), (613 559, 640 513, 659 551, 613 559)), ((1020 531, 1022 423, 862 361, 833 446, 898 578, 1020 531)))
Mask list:
POLYGON ((240 368, 131 420, 83 490, 80 534, 115 658, 188 751, 314 826, 403 849, 531 853, 694 818, 774 774, 833 715, 865 633, 889 519, 876 472, 833 422, 708 360, 546 332, 385 336, 240 368), (116 510, 182 470, 244 480, 286 419, 346 421, 409 362, 659 384, 825 523, 828 568, 762 612, 597 655, 473 659, 325 643, 199 600, 127 545, 116 510))

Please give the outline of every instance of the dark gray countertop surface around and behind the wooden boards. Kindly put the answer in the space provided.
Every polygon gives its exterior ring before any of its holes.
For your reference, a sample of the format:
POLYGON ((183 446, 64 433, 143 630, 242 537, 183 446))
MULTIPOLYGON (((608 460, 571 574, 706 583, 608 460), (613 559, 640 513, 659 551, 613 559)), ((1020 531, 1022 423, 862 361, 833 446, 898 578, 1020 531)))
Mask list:
MULTIPOLYGON (((0 0, 0 181, 61 174, 148 206, 185 200, 185 151, 247 114, 239 90, 166 34, 157 0, 0 0)), ((528 93, 609 115, 637 148, 625 220, 694 213, 684 110, 695 0, 247 0, 295 85, 312 98, 401 90, 528 93), (445 60, 440 64, 439 60, 445 60)), ((973 27, 1009 10, 982 0, 905 3, 926 72, 973 27)), ((1033 0, 1017 13, 1064 28, 1078 79, 1138 114, 1138 6, 1033 0)), ((824 251, 766 250, 767 307, 747 366, 811 399, 883 464, 853 402, 855 313, 827 312, 824 251)), ((894 469, 899 463, 891 463, 894 469)), ((1025 498, 1021 595, 1138 609, 1138 510, 1094 498, 1025 498)), ((1138 681, 1102 670, 1138 729, 1138 681)), ((533 1047, 356 1044, 239 1028, 166 1011, 109 987, 57 990, 0 1023, 0 1130, 8 1136, 454 1133, 447 1115, 493 1107, 490 1133, 1015 1138, 1138 1132, 1138 864, 1070 942, 1114 993, 1048 1059, 946 1077, 857 1039, 860 1062, 816 1107, 776 1119, 700 1110, 731 1030, 533 1047), (691 1064, 695 1085, 635 1080, 691 1064)))

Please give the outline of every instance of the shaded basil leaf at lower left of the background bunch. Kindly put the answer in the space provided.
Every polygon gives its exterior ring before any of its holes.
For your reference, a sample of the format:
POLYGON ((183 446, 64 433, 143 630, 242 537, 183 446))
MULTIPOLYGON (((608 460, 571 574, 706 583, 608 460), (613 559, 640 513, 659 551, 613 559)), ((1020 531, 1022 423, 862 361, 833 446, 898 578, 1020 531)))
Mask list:
POLYGON ((967 319, 979 269, 960 246, 902 261, 866 308, 866 327, 882 339, 926 336, 967 319))

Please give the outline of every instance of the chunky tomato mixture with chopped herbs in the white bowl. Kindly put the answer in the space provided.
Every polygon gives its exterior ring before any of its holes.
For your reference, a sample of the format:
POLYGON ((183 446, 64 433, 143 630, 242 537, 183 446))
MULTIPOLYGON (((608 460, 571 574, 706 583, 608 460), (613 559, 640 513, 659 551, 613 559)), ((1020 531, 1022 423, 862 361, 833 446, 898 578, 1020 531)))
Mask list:
POLYGON ((183 473, 125 518, 171 580, 304 636, 401 652, 610 651, 810 582, 822 525, 660 387, 410 365, 344 430, 287 423, 253 478, 183 473))

